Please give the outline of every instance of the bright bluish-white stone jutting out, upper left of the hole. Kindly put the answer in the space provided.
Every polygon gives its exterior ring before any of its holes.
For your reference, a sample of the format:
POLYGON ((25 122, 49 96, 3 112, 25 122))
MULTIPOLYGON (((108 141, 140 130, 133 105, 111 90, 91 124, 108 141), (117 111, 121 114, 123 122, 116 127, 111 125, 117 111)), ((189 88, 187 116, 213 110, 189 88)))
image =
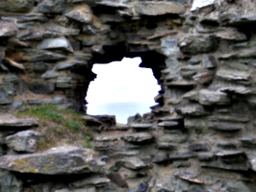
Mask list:
POLYGON ((73 52, 73 48, 65 37, 46 38, 38 44, 38 49, 63 49, 73 52))

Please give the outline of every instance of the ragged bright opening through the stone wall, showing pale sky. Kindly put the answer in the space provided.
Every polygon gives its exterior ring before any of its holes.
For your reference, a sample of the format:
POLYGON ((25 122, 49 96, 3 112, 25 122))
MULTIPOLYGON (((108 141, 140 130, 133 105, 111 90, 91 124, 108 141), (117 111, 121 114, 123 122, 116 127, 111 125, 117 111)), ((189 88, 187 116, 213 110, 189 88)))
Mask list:
POLYGON ((87 113, 115 115, 116 122, 127 123, 137 112, 150 112, 161 89, 151 68, 141 68, 141 58, 93 64, 97 78, 90 82, 87 113))

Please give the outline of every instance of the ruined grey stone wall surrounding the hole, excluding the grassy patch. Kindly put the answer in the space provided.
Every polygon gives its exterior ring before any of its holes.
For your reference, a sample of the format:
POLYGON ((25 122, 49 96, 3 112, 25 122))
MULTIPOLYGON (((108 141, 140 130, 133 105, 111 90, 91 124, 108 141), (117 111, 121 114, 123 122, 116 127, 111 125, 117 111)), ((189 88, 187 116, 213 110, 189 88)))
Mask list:
MULTIPOLYGON (((191 7, 187 0, 2 0, 2 112, 40 104, 85 111, 92 64, 123 57, 141 57, 162 87, 139 123, 95 133, 97 157, 77 148, 3 152, 2 191, 255 191, 256 4, 191 7), (32 181, 20 181, 25 175, 32 181)), ((2 115, 2 145, 17 127, 34 124, 2 115)))

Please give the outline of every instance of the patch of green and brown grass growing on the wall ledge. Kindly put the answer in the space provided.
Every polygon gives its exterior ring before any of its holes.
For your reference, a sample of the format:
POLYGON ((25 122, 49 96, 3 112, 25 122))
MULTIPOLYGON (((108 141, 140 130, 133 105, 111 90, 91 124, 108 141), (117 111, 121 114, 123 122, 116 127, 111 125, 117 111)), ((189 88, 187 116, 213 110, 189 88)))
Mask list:
POLYGON ((86 126, 82 115, 74 109, 58 108, 56 105, 44 105, 26 108, 16 112, 17 117, 34 117, 38 119, 38 132, 47 140, 38 144, 39 150, 60 145, 76 145, 93 149, 93 133, 86 126))

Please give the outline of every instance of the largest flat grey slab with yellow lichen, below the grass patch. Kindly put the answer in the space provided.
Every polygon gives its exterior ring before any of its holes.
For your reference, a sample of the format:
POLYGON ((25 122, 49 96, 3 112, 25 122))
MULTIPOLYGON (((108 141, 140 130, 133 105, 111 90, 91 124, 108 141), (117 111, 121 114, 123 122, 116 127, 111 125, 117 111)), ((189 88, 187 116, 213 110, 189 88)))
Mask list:
POLYGON ((58 147, 31 155, 1 156, 0 168, 19 173, 44 175, 100 172, 104 163, 93 151, 78 147, 58 147))

